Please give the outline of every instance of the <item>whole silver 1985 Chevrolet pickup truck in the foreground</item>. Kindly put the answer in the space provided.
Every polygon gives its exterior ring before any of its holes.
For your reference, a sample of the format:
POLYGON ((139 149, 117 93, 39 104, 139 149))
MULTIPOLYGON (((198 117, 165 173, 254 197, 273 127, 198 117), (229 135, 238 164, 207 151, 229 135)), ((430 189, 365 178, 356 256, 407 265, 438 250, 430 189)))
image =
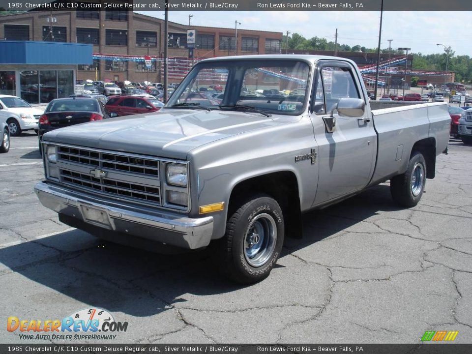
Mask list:
POLYGON ((304 211, 386 180, 395 202, 416 205, 449 126, 445 103, 372 109, 348 59, 205 59, 160 112, 45 134, 35 191, 60 221, 99 237, 212 241, 227 275, 251 283, 300 233, 304 211), (225 88, 222 100, 210 85, 225 88))

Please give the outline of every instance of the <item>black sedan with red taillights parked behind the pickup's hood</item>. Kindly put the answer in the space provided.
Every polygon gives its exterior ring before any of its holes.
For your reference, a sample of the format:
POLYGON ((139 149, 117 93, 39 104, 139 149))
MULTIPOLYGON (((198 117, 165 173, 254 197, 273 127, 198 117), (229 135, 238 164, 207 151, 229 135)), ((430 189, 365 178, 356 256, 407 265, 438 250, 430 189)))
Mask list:
POLYGON ((39 151, 41 151, 43 135, 47 132, 110 117, 113 116, 108 113, 105 105, 97 98, 79 96, 56 98, 49 102, 44 114, 39 118, 39 151))

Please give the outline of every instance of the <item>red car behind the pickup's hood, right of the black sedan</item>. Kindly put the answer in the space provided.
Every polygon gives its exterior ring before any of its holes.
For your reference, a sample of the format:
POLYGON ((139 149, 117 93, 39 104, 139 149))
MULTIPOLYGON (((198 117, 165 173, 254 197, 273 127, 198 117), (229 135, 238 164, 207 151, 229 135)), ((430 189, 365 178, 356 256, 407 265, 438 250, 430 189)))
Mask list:
POLYGON ((118 116, 129 116, 133 114, 156 112, 164 107, 157 99, 139 96, 113 96, 105 105, 107 110, 118 116))

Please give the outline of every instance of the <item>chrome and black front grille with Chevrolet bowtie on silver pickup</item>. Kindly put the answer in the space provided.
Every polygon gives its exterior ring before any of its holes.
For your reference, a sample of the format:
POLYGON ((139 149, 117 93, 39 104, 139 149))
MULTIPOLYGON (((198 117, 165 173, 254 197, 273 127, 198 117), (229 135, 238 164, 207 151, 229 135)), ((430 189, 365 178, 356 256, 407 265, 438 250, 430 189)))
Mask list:
POLYGON ((159 168, 152 158, 110 151, 58 147, 59 181, 150 205, 162 205, 159 168))

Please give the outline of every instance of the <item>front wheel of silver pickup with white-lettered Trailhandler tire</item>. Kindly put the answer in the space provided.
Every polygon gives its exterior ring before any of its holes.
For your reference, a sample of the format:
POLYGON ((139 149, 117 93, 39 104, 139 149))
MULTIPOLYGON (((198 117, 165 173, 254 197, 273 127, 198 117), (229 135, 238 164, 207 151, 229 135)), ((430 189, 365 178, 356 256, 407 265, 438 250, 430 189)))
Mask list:
POLYGON ((229 218, 219 240, 224 272, 238 283, 265 279, 277 262, 284 242, 284 219, 278 203, 259 196, 241 205, 229 218))

